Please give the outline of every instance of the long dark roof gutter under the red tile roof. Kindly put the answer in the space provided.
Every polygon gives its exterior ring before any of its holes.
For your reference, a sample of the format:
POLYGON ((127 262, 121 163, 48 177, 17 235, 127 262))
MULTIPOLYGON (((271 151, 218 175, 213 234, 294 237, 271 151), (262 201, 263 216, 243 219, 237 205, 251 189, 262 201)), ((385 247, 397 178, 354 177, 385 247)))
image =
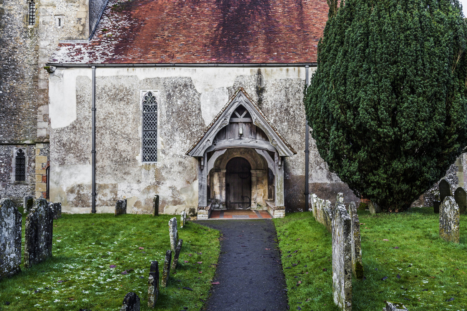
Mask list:
POLYGON ((156 63, 156 64, 62 64, 49 62, 46 66, 54 66, 57 68, 141 68, 141 67, 316 67, 316 62, 287 62, 287 63, 234 63, 234 64, 223 64, 223 63, 156 63))

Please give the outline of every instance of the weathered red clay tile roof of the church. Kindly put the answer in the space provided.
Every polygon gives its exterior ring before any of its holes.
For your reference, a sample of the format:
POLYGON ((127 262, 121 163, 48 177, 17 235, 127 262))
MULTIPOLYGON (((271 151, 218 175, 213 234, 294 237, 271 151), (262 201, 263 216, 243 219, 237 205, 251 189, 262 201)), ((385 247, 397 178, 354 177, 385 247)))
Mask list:
POLYGON ((316 62, 326 0, 109 0, 89 43, 50 63, 316 62))

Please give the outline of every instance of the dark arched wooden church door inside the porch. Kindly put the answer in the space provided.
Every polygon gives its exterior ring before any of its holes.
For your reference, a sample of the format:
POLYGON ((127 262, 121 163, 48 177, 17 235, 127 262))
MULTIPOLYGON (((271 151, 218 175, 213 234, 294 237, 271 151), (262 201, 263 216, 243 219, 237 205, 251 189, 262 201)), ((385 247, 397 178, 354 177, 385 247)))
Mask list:
POLYGON ((227 162, 226 207, 251 207, 251 165, 247 159, 235 157, 227 162))

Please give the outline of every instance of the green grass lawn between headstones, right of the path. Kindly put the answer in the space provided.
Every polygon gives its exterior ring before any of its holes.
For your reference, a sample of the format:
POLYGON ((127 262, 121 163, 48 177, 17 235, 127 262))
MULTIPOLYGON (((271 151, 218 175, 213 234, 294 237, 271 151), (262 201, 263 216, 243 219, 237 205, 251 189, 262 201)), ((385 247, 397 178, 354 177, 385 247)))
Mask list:
MULTIPOLYGON (((359 211, 366 280, 352 282, 354 311, 382 310, 385 300, 400 301, 409 311, 467 310, 467 215, 461 215, 456 245, 439 238, 439 215, 432 211, 359 211)), ((338 310, 332 293, 331 234, 311 212, 274 222, 290 310, 338 310)))

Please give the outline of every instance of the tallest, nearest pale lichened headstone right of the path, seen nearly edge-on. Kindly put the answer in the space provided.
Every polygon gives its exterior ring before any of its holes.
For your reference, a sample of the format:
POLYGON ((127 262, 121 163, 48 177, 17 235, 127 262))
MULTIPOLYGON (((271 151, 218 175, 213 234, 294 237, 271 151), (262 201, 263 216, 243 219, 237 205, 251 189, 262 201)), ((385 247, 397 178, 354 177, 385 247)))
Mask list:
POLYGON ((343 203, 333 209, 333 297, 342 311, 352 310, 352 220, 343 203))

